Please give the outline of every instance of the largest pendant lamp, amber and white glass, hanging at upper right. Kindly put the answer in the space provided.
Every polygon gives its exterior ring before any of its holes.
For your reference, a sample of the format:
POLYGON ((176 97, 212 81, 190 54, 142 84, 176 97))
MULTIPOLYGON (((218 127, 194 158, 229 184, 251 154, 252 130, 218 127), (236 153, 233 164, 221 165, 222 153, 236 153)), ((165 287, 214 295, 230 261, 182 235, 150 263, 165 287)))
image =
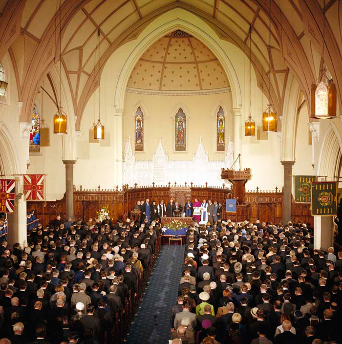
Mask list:
MULTIPOLYGON (((324 7, 325 8, 325 1, 324 7)), ((323 14, 324 15, 324 14, 323 14)), ((325 45, 325 15, 323 21, 323 46, 322 46, 322 70, 321 79, 318 83, 311 85, 311 118, 335 118, 336 117, 336 103, 337 94, 336 86, 332 80, 329 80, 326 75, 326 66, 324 64, 324 45, 325 45)))

